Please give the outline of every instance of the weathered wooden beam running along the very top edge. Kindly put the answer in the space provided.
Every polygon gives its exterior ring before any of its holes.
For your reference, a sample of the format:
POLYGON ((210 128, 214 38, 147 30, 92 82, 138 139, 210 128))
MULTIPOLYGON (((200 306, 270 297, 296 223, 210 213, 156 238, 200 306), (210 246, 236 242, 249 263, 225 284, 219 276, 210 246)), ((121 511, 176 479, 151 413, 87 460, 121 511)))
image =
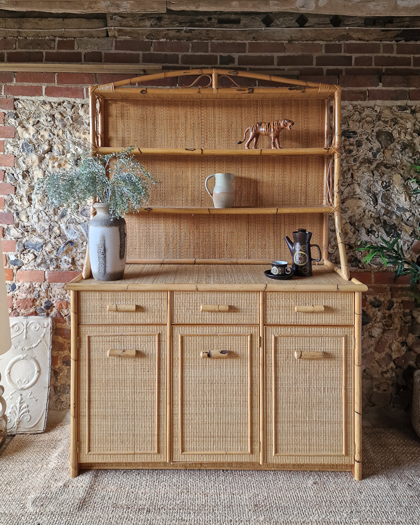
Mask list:
POLYGON ((0 0, 0 9, 48 13, 165 13, 167 11, 420 16, 420 0, 0 0))

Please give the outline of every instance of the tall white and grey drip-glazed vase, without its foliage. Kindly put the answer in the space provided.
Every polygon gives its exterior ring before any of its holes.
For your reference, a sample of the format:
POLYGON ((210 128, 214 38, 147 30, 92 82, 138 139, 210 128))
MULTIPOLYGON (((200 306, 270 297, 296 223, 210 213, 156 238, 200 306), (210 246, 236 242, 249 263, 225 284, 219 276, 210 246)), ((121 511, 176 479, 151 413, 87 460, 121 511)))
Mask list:
POLYGON ((93 279, 122 279, 127 258, 127 225, 113 217, 109 204, 94 204, 96 215, 89 222, 89 258, 93 279))

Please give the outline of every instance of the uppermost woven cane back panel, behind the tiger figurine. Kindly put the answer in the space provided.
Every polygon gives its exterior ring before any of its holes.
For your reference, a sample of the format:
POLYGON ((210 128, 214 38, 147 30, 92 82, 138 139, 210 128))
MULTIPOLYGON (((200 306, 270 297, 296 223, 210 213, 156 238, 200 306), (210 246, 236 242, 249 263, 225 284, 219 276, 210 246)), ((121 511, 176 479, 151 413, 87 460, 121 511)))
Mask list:
MULTIPOLYGON (((257 97, 257 95, 256 95, 257 97)), ((324 100, 170 99, 105 100, 103 146, 116 148, 203 148, 241 150, 244 131, 257 122, 288 119, 292 129, 280 132, 282 148, 323 148, 324 100)), ((260 137, 258 148, 271 148, 260 137)), ((215 173, 211 171, 210 173, 215 173)))

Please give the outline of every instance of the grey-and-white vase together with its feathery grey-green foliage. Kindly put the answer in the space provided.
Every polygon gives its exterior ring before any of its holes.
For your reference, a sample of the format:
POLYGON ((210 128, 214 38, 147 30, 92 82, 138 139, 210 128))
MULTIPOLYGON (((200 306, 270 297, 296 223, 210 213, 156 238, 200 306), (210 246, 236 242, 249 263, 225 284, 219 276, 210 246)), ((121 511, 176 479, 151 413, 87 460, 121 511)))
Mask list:
MULTIPOLYGON (((155 181, 132 154, 133 148, 106 155, 82 151, 66 169, 43 180, 48 202, 55 206, 95 202, 88 235, 88 256, 94 279, 121 279, 127 257, 127 227, 123 215, 138 211, 155 181)), ((85 275, 86 277, 86 275, 85 275)))

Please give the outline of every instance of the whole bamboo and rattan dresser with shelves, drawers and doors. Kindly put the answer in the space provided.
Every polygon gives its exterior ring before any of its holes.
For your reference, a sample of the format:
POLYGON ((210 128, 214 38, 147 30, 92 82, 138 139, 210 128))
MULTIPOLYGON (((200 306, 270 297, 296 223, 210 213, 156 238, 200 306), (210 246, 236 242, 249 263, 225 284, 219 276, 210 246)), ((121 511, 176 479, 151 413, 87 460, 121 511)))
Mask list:
POLYGON ((134 146, 159 183, 126 217, 120 281, 71 296, 71 476, 90 468, 351 471, 361 479, 361 292, 340 215, 340 89, 219 69, 90 89, 97 154, 134 146), (176 87, 148 88, 148 85, 176 87), (252 85, 254 87, 248 87, 252 85), (281 149, 237 142, 290 119, 281 149), (211 173, 234 173, 215 209, 211 173), (333 217, 340 264, 328 259, 333 217), (311 277, 272 280, 313 232, 311 277))

